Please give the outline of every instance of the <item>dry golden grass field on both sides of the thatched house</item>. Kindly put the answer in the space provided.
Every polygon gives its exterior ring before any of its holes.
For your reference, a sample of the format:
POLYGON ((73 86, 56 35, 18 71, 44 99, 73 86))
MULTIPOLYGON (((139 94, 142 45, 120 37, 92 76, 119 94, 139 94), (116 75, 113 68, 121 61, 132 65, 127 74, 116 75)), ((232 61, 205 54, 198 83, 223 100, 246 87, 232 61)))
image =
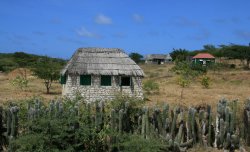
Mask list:
MULTIPOLYGON (((148 105, 162 104, 168 102, 170 105, 181 105, 184 107, 197 106, 201 104, 210 104, 215 106, 219 99, 225 97, 229 100, 239 99, 244 101, 250 97, 250 71, 227 70, 221 72, 209 72, 212 79, 212 85, 205 89, 197 79, 192 82, 188 88, 184 89, 183 98, 180 98, 181 87, 177 84, 177 75, 169 70, 172 64, 166 65, 141 65, 146 77, 144 82, 151 79, 160 86, 158 94, 149 95, 148 105)), ((10 81, 18 74, 20 70, 14 70, 9 74, 0 73, 0 102, 9 100, 20 100, 30 98, 31 96, 41 96, 45 100, 50 100, 61 95, 61 85, 55 82, 51 88, 51 94, 47 95, 43 81, 27 72, 29 87, 22 91, 13 87, 10 81)))

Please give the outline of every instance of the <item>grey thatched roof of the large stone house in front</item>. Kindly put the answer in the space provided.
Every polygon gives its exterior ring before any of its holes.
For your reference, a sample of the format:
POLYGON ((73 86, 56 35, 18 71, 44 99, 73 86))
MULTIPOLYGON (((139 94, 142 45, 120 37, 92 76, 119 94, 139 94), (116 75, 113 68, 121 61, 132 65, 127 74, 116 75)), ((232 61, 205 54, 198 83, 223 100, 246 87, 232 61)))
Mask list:
POLYGON ((144 76, 142 69, 116 48, 79 48, 61 74, 144 76))

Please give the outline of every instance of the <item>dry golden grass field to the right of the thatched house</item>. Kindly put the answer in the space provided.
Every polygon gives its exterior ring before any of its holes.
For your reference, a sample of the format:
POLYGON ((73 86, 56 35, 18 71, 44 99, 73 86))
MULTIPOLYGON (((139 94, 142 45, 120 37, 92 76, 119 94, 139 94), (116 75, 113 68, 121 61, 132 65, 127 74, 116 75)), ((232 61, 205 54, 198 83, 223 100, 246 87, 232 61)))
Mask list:
POLYGON ((232 69, 220 72, 209 72, 211 86, 203 88, 200 80, 191 83, 184 88, 184 95, 181 99, 182 88, 177 84, 177 75, 170 72, 173 65, 141 65, 146 77, 144 82, 152 79, 160 86, 158 94, 149 95, 148 104, 161 104, 168 102, 170 105, 181 105, 184 107, 210 104, 215 106, 221 98, 229 100, 239 99, 245 101, 250 97, 250 71, 232 69))

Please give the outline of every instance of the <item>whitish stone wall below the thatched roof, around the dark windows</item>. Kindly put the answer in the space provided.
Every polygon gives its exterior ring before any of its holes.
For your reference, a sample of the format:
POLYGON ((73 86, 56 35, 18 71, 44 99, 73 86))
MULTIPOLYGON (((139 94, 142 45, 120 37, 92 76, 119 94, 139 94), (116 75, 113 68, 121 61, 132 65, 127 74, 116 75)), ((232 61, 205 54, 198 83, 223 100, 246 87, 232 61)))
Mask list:
POLYGON ((67 97, 74 97, 77 92, 88 102, 96 100, 110 100, 116 94, 126 94, 143 98, 142 81, 140 77, 132 77, 131 86, 119 86, 119 76, 111 77, 111 86, 101 86, 101 76, 92 75, 91 86, 80 85, 80 76, 69 75, 66 84, 62 86, 62 95, 67 97))

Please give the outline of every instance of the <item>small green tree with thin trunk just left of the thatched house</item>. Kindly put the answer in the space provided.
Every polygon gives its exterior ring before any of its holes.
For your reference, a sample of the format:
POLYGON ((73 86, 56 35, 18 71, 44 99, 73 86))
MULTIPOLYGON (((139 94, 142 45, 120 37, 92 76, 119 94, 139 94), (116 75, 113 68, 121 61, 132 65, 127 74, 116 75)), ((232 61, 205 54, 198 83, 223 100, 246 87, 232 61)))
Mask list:
POLYGON ((58 62, 53 62, 48 57, 38 60, 37 64, 32 68, 34 75, 44 80, 47 94, 50 93, 52 83, 59 79, 60 69, 61 65, 58 62))

